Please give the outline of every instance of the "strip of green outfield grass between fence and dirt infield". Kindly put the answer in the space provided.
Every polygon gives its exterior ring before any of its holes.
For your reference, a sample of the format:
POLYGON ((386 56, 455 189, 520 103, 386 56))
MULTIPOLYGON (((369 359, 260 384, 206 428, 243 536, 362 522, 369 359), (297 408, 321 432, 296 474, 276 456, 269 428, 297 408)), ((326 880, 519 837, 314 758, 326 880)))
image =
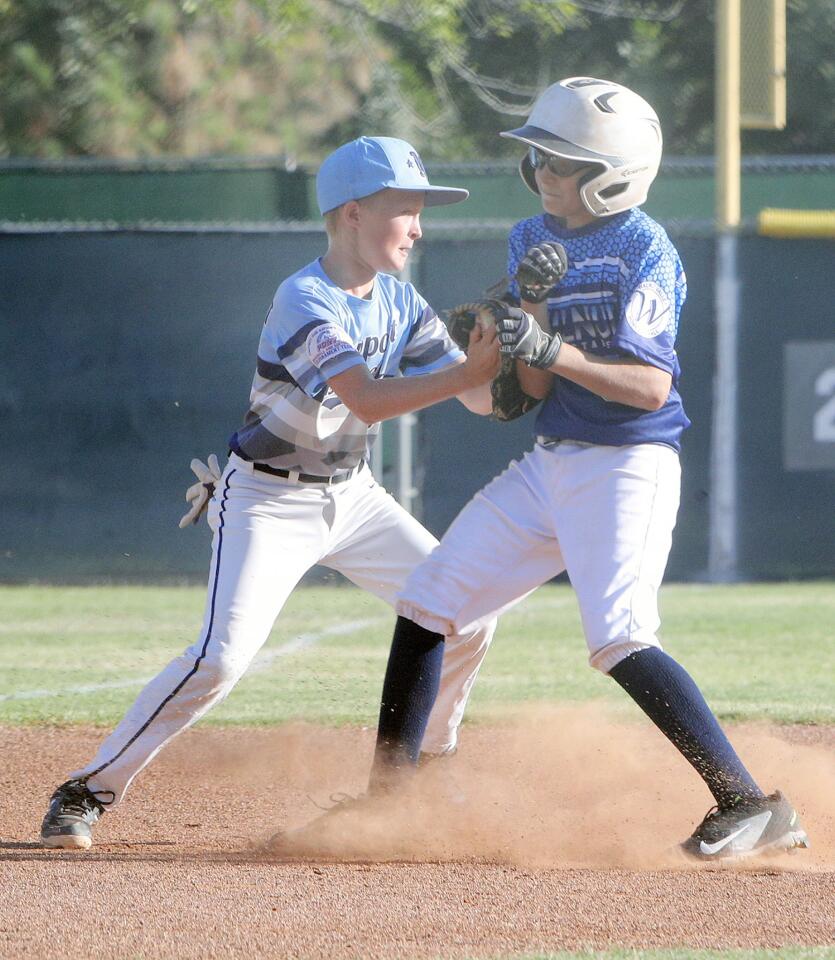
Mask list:
MULTIPOLYGON (((0 587, 0 723, 118 721, 142 683, 192 643, 197 587, 0 587)), ((835 722, 835 584, 670 585, 662 641, 724 719, 835 722)), ((392 611, 352 587, 303 587, 232 695, 204 721, 376 722, 392 611)), ((506 614, 468 722, 523 702, 604 699, 574 595, 543 587, 506 614)))

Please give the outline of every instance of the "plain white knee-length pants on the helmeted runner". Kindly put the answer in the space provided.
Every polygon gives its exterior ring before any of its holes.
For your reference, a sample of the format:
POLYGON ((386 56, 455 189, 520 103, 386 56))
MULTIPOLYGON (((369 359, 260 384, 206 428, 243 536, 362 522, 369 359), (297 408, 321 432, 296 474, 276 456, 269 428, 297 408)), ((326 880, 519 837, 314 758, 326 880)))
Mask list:
POLYGON ((660 647, 657 594, 680 481, 678 454, 660 444, 538 443, 464 507, 407 580, 397 612, 466 634, 567 570, 589 661, 608 673, 660 647))

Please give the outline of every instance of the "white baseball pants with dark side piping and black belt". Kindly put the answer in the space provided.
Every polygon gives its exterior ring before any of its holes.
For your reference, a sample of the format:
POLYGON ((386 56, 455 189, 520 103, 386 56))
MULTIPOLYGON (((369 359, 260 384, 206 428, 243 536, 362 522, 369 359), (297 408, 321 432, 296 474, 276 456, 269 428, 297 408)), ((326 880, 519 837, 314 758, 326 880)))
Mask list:
MULTIPOLYGON (((394 605, 437 540, 363 467, 339 484, 291 482, 232 454, 209 504, 214 531, 200 638, 139 694, 83 770, 118 804, 133 778, 178 733, 223 700, 266 641, 287 597, 317 563, 394 605)), ((449 636, 423 749, 454 748, 495 621, 449 636)), ((382 683, 382 677, 381 677, 382 683)))

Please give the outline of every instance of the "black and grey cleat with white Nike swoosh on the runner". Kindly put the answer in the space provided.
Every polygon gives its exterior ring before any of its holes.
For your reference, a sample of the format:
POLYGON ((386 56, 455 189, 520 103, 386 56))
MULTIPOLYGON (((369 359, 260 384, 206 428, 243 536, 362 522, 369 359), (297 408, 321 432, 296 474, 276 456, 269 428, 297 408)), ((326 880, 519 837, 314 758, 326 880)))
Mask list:
POLYGON ((797 811, 775 791, 768 797, 714 807, 681 849, 697 860, 742 860, 761 854, 808 847, 797 811))

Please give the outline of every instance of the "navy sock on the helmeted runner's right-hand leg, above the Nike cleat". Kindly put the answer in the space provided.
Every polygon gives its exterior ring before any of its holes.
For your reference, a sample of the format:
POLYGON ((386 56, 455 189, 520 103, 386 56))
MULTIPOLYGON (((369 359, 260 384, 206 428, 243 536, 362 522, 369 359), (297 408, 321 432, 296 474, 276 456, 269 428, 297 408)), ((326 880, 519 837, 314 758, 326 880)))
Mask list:
POLYGON ((621 660, 609 676, 695 767, 720 807, 763 796, 693 678, 672 657, 648 647, 621 660))

